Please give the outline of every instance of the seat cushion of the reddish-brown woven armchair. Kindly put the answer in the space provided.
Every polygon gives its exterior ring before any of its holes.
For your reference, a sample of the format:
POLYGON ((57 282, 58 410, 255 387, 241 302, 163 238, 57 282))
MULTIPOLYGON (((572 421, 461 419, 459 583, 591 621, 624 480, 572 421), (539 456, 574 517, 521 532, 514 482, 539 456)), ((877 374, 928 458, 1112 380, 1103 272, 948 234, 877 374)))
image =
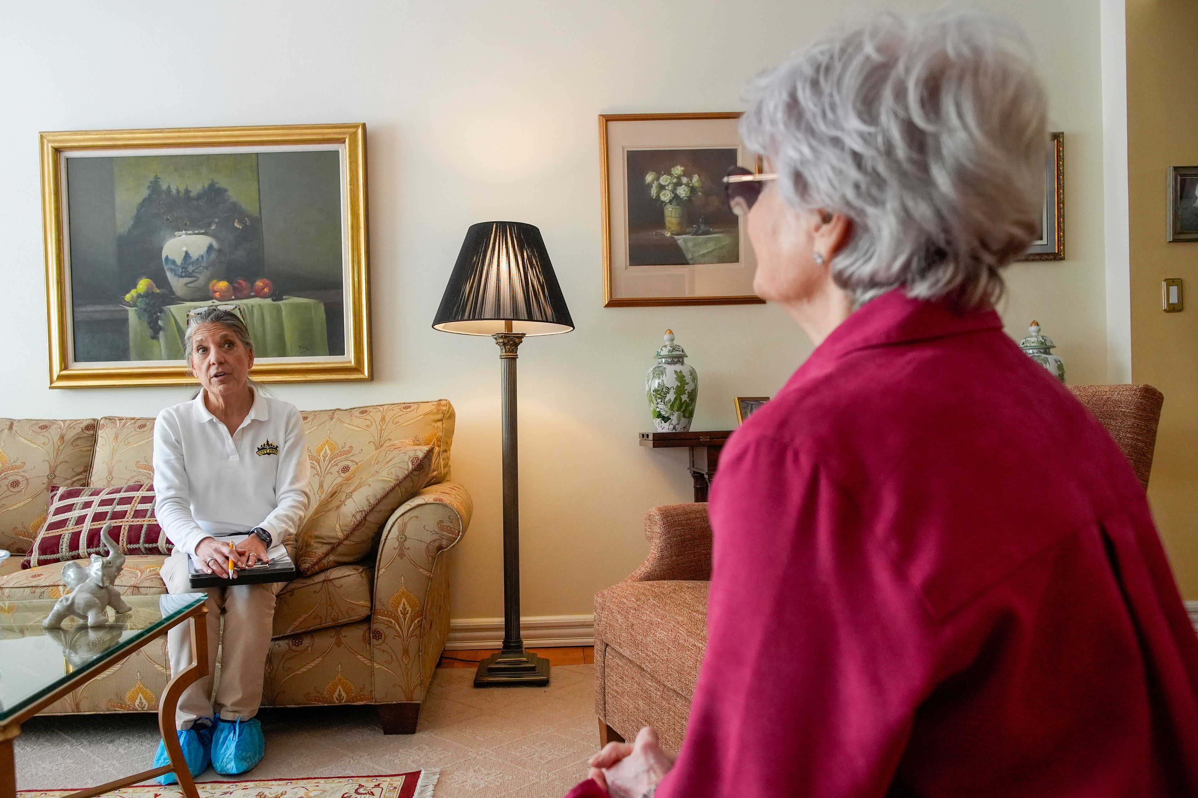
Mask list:
POLYGON ((707 581, 622 581, 595 593, 595 645, 689 696, 707 647, 707 581))

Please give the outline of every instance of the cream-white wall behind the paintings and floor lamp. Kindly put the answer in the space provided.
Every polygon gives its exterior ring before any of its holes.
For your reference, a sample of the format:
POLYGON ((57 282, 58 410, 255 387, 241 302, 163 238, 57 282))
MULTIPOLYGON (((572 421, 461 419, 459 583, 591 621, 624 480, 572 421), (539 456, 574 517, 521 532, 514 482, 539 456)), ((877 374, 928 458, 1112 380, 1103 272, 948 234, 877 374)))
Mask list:
MULTIPOLYGON (((524 611, 589 613, 643 556, 645 510, 690 498, 685 451, 636 443, 662 330, 698 370, 697 430, 732 427, 734 395, 772 394, 810 352, 769 306, 603 307, 597 115, 736 110, 749 75, 835 22, 939 5, 4 2, 0 415, 152 415, 187 395, 46 388, 38 130, 364 121, 377 377, 277 394, 302 408, 452 400, 454 477, 476 501, 453 615, 501 615, 497 351, 429 323, 470 224, 538 225, 577 330, 521 347, 524 611)), ((1028 30, 1066 132, 1070 260, 1012 267, 1009 330, 1039 318, 1070 382, 1105 382, 1099 6, 987 5, 1028 30)))

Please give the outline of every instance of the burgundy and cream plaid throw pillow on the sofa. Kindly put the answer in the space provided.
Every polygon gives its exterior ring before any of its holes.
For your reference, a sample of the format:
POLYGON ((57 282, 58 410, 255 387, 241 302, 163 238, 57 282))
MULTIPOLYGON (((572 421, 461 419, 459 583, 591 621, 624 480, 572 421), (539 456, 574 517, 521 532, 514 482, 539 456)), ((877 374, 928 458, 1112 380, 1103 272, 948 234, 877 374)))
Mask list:
POLYGON ((153 486, 50 488, 50 510, 22 568, 107 554, 99 540, 113 522, 113 540, 126 554, 170 554, 167 532, 153 516, 153 486))

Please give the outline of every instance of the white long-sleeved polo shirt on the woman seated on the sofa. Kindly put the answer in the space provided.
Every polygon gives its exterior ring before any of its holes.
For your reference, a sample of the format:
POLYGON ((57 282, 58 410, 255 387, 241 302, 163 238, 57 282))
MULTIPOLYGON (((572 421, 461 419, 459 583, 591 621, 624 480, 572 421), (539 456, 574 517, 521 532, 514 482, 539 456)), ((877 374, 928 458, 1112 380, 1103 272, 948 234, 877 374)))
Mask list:
POLYGON ((254 391, 234 434, 204 404, 158 414, 153 427, 155 513, 167 537, 188 554, 208 535, 295 535, 308 512, 308 449, 300 410, 254 391))

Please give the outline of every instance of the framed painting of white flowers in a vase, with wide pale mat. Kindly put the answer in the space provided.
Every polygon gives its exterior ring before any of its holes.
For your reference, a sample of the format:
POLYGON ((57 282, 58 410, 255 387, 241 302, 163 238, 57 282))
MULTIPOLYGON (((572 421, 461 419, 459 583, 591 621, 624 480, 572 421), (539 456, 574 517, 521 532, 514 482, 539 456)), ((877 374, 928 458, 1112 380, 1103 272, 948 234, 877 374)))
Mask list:
POLYGON ((604 306, 763 303, 731 166, 761 171, 738 112, 599 116, 604 306))

